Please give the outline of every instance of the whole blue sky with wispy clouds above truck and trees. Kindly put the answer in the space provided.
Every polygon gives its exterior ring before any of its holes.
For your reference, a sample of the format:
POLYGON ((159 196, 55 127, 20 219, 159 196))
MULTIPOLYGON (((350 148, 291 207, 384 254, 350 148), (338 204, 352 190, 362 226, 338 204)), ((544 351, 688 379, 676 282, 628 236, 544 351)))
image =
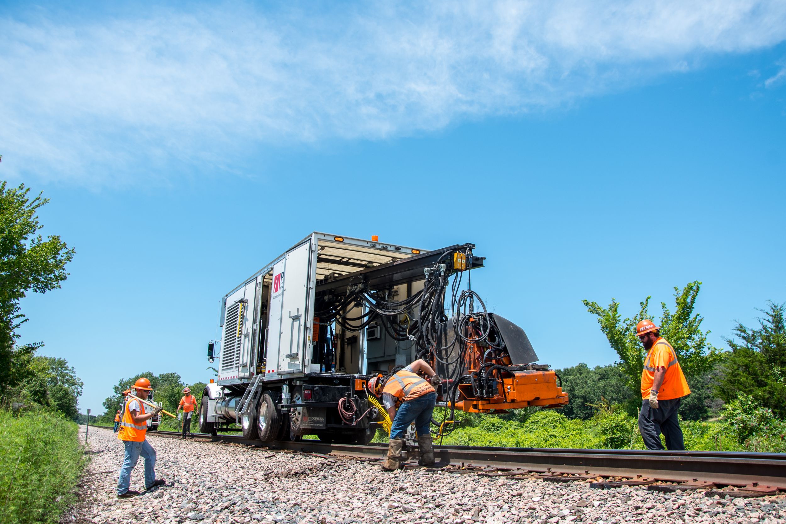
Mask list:
POLYGON ((691 280, 723 346, 786 300, 786 6, 684 3, 5 3, 0 176, 77 251, 23 342, 94 412, 138 371, 208 379, 220 297, 321 230, 477 244, 473 288, 556 367, 615 360, 582 299, 691 280))

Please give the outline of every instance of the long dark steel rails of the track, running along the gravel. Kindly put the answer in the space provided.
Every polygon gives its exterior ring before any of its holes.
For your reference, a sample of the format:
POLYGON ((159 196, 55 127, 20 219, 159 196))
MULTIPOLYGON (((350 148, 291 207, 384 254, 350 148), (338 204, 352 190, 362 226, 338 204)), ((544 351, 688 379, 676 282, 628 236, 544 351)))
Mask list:
MULTIPOLYGON (((174 431, 154 431, 163 437, 180 436, 174 431)), ((383 443, 336 444, 318 440, 262 442, 241 435, 194 434, 210 442, 288 449, 301 453, 334 453, 343 456, 382 458, 383 443)), ((543 473, 585 476, 654 478, 668 482, 714 482, 729 486, 773 486, 786 490, 786 453, 725 451, 648 451, 642 449, 538 449, 479 446, 435 446, 440 466, 474 465, 521 469, 543 473)), ((524 472, 524 471, 522 471, 524 472)))

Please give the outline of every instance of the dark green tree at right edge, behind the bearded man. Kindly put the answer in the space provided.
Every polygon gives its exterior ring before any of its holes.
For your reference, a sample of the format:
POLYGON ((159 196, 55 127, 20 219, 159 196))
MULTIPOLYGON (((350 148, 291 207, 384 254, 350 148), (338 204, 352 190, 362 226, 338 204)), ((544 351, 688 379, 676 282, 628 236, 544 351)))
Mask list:
POLYGON ((786 417, 786 304, 769 302, 766 310, 758 310, 758 328, 736 323, 734 334, 740 339, 727 339, 729 351, 722 365, 718 395, 731 401, 738 394, 754 401, 780 417, 786 417))

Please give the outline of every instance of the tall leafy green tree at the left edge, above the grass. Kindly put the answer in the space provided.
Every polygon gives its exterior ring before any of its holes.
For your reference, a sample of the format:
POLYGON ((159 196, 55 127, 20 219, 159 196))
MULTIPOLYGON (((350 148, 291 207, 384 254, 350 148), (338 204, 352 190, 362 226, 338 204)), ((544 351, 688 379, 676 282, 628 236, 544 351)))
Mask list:
MULTIPOLYGON (((19 383, 14 376, 20 370, 17 358, 31 357, 40 344, 15 347, 17 328, 27 319, 20 313, 19 302, 29 291, 46 293, 61 287, 68 277, 65 265, 75 251, 50 235, 46 240, 39 230, 43 225, 36 212, 49 202, 39 193, 30 198, 24 184, 9 187, 0 182, 0 394, 19 383)), ((21 366, 24 368, 24 366, 21 366)))

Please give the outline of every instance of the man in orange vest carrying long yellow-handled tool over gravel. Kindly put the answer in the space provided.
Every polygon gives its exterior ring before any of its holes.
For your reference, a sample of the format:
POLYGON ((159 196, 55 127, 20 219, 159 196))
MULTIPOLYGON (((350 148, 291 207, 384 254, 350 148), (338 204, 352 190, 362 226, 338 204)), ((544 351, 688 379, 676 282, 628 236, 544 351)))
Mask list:
POLYGON ((152 412, 145 412, 145 401, 150 394, 150 381, 141 377, 134 383, 138 398, 129 395, 123 408, 123 417, 120 420, 120 430, 117 438, 125 445, 123 467, 117 481, 117 497, 120 499, 134 497, 139 494, 134 489, 129 489, 131 470, 137 465, 139 456, 145 459, 145 489, 163 486, 163 478, 156 478, 156 450, 145 439, 147 433, 147 420, 158 415, 163 409, 156 407, 152 412))

